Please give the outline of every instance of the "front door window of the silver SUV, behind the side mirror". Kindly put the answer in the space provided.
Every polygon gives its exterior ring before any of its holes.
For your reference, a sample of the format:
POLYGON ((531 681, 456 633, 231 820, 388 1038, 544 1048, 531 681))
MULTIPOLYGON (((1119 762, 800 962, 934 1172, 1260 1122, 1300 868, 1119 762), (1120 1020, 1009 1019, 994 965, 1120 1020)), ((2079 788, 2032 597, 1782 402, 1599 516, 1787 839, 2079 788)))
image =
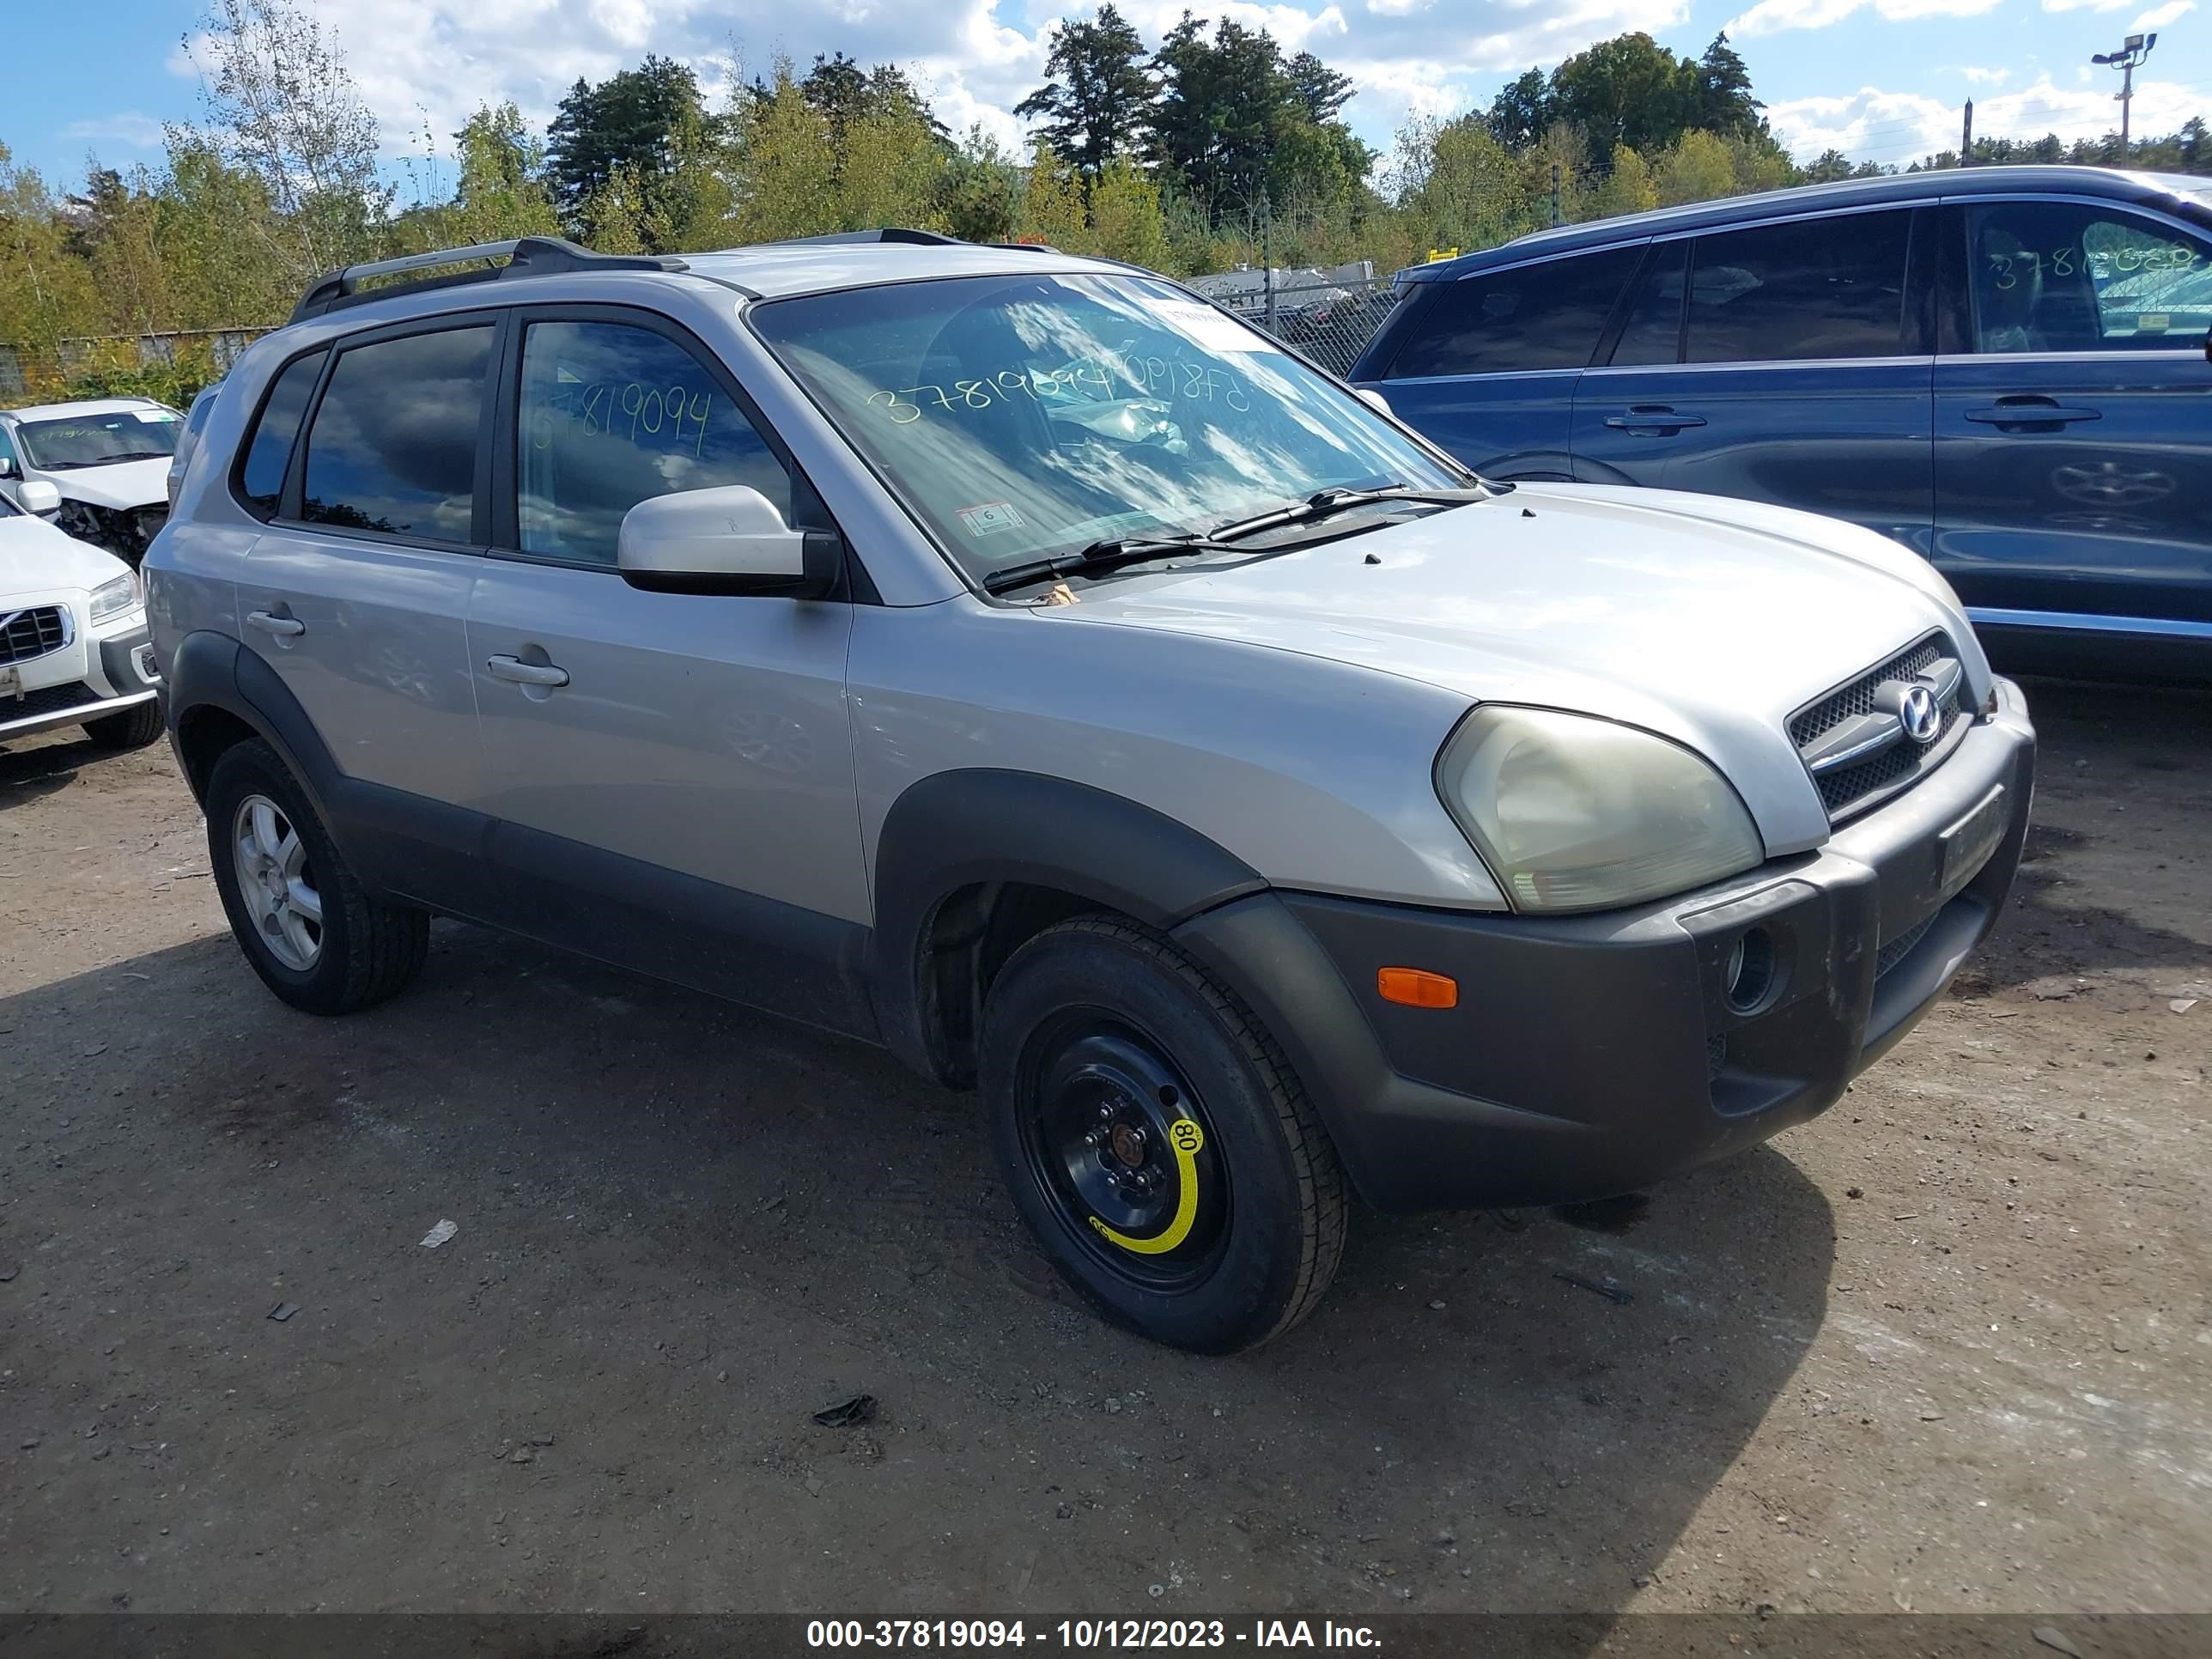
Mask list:
POLYGON ((522 336, 515 533, 524 553, 613 564, 650 495, 750 484, 783 522, 783 462, 699 358, 626 323, 531 323, 522 336))

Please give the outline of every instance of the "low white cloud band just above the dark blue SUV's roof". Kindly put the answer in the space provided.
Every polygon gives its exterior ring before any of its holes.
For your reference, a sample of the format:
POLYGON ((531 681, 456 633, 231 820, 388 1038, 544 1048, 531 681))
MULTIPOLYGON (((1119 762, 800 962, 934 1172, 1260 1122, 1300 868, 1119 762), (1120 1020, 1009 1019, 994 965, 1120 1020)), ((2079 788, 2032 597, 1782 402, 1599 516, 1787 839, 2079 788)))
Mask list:
MULTIPOLYGON (((2201 97, 2177 82, 2135 84, 2135 131, 2172 133, 2201 106, 2201 97)), ((1887 93, 1863 86, 1849 97, 1792 97, 1767 108, 1774 135, 1801 161, 1823 150, 1843 150, 1854 161, 1905 166, 1922 155, 1955 150, 1960 106, 1924 93, 1887 93)), ((2057 86, 2048 75, 2013 93, 1973 100, 1975 137, 2037 139, 2057 133, 2064 142, 2095 139, 2119 128, 2119 111, 2106 86, 2057 86)))

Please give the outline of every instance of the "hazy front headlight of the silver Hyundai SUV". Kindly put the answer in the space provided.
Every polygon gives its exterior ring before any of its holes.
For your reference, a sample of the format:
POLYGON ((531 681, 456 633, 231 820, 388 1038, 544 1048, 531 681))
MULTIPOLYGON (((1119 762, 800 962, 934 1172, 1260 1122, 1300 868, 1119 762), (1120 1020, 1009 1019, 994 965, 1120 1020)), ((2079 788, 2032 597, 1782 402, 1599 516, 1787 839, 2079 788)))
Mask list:
POLYGON ((1436 787, 1513 909, 1635 905, 1765 858, 1752 814, 1703 759, 1586 714, 1478 708, 1444 743, 1436 787))

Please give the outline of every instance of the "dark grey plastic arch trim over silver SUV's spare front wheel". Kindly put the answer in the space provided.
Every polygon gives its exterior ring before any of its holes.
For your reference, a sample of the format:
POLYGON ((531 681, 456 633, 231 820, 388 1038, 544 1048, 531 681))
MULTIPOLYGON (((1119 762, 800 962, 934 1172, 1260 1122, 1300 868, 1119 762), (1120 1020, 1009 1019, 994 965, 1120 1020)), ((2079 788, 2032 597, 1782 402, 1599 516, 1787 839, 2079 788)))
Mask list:
POLYGON ((998 768, 927 776, 876 838, 869 995, 883 1040, 967 1088, 982 995, 1024 940, 1086 914, 1166 933, 1265 885, 1217 841, 1110 790, 998 768))

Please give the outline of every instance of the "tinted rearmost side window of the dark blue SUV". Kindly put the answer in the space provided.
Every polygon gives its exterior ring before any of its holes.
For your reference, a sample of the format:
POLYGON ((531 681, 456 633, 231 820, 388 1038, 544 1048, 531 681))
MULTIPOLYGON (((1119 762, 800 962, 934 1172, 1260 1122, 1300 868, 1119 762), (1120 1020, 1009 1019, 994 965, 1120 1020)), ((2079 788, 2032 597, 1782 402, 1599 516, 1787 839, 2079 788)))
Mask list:
POLYGON ((1438 283, 1407 327, 1391 378, 1584 367, 1639 252, 1613 248, 1438 283))

